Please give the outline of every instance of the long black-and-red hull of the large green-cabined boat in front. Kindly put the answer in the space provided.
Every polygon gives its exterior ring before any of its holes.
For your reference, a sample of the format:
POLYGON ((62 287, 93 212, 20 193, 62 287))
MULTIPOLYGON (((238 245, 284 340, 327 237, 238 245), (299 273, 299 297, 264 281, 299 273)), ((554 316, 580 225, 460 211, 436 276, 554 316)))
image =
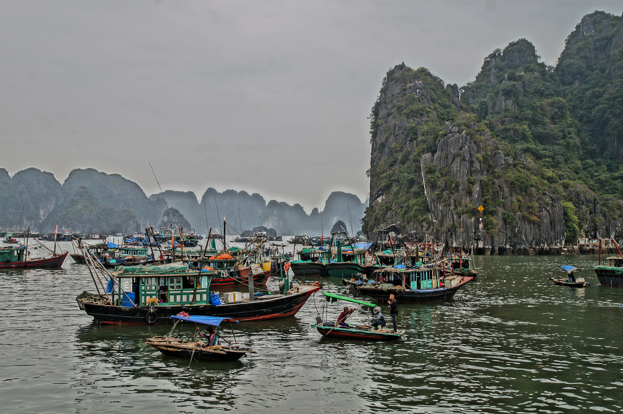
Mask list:
POLYGON ((259 321, 262 319, 286 318, 296 314, 312 293, 320 289, 320 286, 302 286, 300 291, 287 296, 261 299, 242 303, 230 303, 221 305, 196 304, 174 306, 109 306, 98 304, 83 298, 86 293, 76 298, 80 309, 98 323, 103 324, 149 324, 171 323, 171 316, 180 312, 186 312, 196 316, 218 316, 236 319, 237 321, 259 321))

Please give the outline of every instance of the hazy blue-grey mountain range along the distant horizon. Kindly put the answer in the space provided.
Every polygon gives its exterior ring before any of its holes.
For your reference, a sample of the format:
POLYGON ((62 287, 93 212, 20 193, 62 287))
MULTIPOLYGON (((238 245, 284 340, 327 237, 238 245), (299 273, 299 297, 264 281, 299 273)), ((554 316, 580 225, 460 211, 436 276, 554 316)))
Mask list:
MULTIPOLYGON (((0 194, 2 229, 16 229, 21 219, 22 228, 30 226, 40 232, 52 231, 59 225, 63 232, 130 233, 149 225, 171 227, 173 222, 185 229, 195 228, 197 233, 207 233, 209 227, 222 232, 222 217, 226 216, 227 223, 235 229, 242 227, 240 230, 264 226, 282 235, 314 234, 323 229, 328 233, 333 223, 342 220, 349 227, 352 222, 356 233, 368 205, 354 194, 332 192, 321 225, 318 209, 307 214, 300 204, 276 200, 267 203, 257 193, 217 192, 210 187, 201 200, 190 191, 168 190, 147 197, 136 182, 92 168, 74 169, 63 184, 54 174, 36 168, 12 177, 0 168, 0 194)), ((350 233, 351 228, 348 230, 350 233)), ((230 231, 237 234, 236 230, 228 230, 228 234, 230 231)))

